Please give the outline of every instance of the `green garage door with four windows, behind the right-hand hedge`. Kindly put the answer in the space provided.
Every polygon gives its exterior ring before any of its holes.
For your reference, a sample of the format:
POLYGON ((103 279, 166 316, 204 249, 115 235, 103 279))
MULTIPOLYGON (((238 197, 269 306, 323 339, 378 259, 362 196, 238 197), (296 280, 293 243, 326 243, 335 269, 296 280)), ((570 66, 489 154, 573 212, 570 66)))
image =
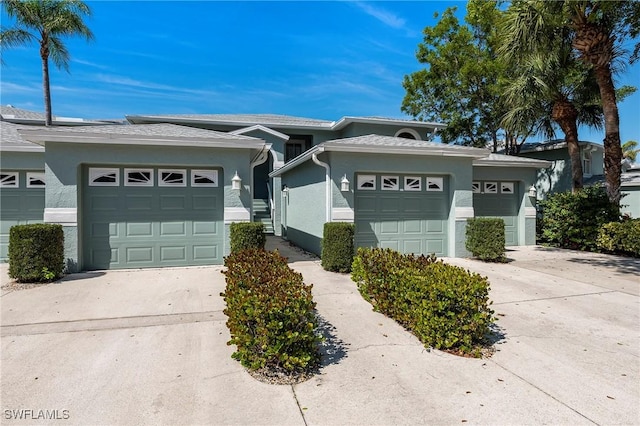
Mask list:
POLYGON ((443 176, 357 175, 356 246, 447 256, 448 194, 443 176))

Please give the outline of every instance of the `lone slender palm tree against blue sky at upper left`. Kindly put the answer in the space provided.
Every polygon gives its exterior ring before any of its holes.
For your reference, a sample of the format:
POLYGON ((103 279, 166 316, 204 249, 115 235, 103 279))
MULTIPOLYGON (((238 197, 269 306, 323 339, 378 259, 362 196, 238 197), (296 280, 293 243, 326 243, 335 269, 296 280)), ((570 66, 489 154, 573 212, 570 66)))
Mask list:
POLYGON ((69 71, 69 51, 62 38, 82 36, 93 39, 93 33, 84 24, 83 17, 91 9, 80 0, 2 0, 14 28, 2 28, 0 46, 3 48, 25 45, 37 41, 42 60, 42 90, 44 94, 45 125, 52 123, 49 59, 58 67, 69 71))

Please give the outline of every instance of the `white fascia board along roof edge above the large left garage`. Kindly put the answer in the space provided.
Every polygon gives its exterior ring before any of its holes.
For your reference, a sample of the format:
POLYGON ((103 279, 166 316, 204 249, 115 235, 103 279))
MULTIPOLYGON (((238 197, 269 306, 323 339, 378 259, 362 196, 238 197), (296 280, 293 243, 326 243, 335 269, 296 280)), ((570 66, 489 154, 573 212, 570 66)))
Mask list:
POLYGON ((46 142, 79 143, 97 145, 152 145, 174 147, 203 147, 203 148, 237 148, 237 149, 262 149, 265 142, 262 139, 256 141, 237 139, 202 139, 202 138, 158 138, 141 137, 139 135, 104 135, 91 133, 64 133, 43 134, 30 131, 18 131, 20 136, 29 142, 44 146, 46 142), (120 142, 122 141, 122 142, 120 142))

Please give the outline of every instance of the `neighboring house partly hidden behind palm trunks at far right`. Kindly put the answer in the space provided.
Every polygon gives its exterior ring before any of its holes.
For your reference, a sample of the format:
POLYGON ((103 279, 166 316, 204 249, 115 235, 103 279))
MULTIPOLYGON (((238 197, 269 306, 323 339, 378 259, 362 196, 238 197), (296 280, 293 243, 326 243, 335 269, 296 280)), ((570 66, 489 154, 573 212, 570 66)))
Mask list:
MULTIPOLYGON (((585 186, 604 184, 604 147, 593 142, 580 141, 583 183, 585 186)), ((571 160, 567 143, 552 140, 541 143, 525 143, 520 156, 547 160, 551 167, 538 170, 536 189, 538 199, 545 199, 550 193, 571 190, 571 160)), ((624 165, 623 165, 624 166, 624 165)), ((629 168, 621 176, 621 212, 631 217, 640 217, 640 171, 629 168)))

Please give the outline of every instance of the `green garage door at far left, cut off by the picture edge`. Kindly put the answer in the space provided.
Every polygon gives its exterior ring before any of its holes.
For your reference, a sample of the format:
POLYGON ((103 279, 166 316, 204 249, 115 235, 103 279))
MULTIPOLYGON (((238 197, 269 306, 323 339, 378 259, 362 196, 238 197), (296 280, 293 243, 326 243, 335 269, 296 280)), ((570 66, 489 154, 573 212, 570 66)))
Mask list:
POLYGON ((13 225, 41 223, 44 215, 44 172, 0 173, 0 260, 7 260, 13 225))

